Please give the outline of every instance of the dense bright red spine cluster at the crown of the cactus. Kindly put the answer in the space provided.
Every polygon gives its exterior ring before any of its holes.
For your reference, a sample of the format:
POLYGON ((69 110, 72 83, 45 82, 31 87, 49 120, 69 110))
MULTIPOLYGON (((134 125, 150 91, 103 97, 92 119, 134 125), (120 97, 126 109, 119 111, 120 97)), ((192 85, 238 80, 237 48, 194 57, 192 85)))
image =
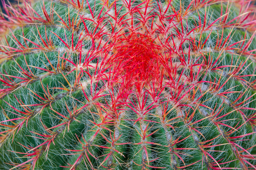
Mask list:
POLYGON ((150 36, 140 33, 123 36, 113 47, 111 64, 126 82, 137 84, 157 78, 160 45, 156 45, 150 36))

